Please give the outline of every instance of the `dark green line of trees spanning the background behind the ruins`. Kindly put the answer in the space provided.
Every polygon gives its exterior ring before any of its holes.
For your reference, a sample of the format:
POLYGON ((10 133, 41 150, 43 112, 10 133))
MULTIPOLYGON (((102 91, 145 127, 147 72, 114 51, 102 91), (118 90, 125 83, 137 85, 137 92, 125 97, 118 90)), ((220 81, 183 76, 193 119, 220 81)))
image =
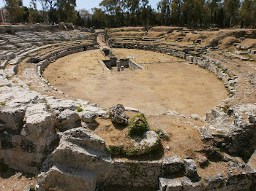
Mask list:
MULTIPOLYGON (((153 9, 148 0, 103 0, 91 9, 91 17, 75 11, 75 0, 4 0, 12 21, 75 23, 86 27, 187 26, 229 28, 256 27, 256 0, 160 0, 153 9), (37 2, 42 12, 37 10, 37 2)), ((86 7, 85 7, 86 8, 86 7)))

